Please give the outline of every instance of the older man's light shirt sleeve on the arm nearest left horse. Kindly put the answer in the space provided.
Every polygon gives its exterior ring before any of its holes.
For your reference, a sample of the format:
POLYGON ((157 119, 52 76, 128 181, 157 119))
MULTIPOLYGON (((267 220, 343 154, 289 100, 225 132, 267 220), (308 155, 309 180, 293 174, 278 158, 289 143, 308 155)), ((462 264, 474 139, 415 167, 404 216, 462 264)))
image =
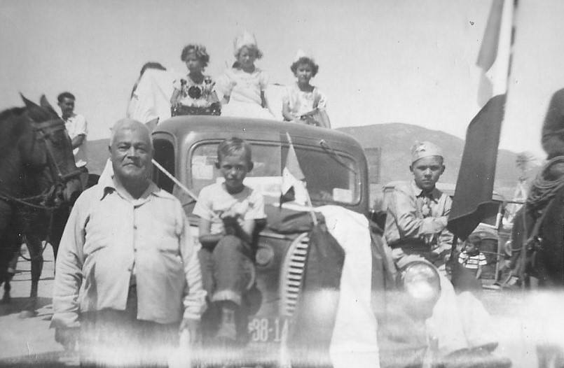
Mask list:
POLYGON ((78 291, 82 284, 83 246, 85 220, 81 205, 84 201, 76 201, 67 225, 64 227, 62 239, 55 265, 55 283, 53 286, 53 318, 52 327, 78 327, 80 305, 78 291))

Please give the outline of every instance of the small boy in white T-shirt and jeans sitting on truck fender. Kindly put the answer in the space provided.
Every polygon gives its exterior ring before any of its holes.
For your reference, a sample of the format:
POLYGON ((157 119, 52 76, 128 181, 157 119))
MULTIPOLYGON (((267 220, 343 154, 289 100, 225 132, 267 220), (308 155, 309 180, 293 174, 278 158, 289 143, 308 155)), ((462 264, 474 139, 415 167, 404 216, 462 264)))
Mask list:
POLYGON ((238 326, 247 327, 241 305, 254 284, 252 234, 255 220, 266 215, 262 194, 243 184, 253 168, 249 143, 239 138, 221 142, 216 167, 225 181, 204 187, 193 213, 200 216, 203 286, 221 312, 216 339, 229 344, 237 341, 238 326))

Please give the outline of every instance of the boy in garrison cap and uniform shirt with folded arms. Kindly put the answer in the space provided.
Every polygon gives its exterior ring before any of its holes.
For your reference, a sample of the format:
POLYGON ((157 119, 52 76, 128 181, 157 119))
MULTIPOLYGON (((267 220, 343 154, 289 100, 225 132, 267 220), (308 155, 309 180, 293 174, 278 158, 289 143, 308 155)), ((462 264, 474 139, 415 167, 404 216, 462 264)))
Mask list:
POLYGON ((420 255, 438 265, 453 243, 446 230, 452 201, 436 188, 445 170, 439 146, 424 141, 411 148, 413 181, 394 187, 387 206, 385 239, 394 258, 420 255))

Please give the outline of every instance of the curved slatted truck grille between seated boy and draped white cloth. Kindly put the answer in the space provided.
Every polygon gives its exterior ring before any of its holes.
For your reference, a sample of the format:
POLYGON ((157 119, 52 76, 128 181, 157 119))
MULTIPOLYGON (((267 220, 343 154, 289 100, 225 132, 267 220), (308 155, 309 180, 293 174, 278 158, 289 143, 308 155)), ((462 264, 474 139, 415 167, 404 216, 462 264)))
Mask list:
POLYGON ((300 234, 290 244, 282 268, 280 269, 280 312, 291 317, 296 311, 300 295, 305 261, 308 259, 310 238, 307 233, 300 234))

